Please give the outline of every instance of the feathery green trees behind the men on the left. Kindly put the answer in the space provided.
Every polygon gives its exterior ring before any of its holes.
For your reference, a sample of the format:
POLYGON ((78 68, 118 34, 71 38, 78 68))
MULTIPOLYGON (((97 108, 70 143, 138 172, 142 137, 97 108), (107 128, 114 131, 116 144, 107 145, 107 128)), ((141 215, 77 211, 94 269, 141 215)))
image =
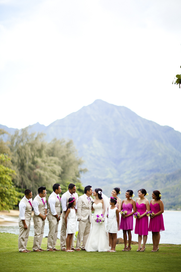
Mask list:
MULTIPOLYGON (((0 129, 0 135, 7 134, 0 129)), ((24 190, 30 189, 33 197, 40 186, 46 186, 47 196, 52 185, 59 183, 65 193, 69 183, 75 183, 78 195, 84 193, 81 174, 83 160, 72 140, 44 141, 43 133, 28 133, 24 128, 9 135, 8 141, 0 138, 0 210, 17 205, 24 190)))

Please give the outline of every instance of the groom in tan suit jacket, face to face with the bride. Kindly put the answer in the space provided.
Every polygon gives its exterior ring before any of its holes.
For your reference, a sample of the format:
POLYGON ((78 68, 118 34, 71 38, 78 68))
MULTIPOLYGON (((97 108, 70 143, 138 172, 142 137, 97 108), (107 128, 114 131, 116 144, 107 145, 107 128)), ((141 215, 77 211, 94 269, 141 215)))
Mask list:
POLYGON ((92 187, 88 185, 84 188, 84 195, 79 196, 78 198, 77 217, 79 221, 79 226, 76 251, 80 251, 80 248, 81 250, 85 250, 85 245, 89 236, 90 225, 92 221, 92 193, 92 187))

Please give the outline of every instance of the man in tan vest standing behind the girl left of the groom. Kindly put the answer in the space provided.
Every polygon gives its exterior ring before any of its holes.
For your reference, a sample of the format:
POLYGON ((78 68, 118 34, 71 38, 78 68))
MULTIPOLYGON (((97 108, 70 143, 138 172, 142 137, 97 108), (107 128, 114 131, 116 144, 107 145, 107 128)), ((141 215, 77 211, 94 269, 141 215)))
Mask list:
MULTIPOLYGON (((68 206, 68 199, 70 197, 75 197, 75 199, 78 199, 78 194, 76 192, 76 186, 74 183, 70 183, 68 185, 68 191, 62 195, 61 198, 61 204, 62 204, 62 227, 60 232, 60 248, 62 251, 66 250, 66 225, 65 225, 65 214, 68 206)), ((77 201, 75 205, 75 212, 77 212, 77 201)), ((74 234, 72 237, 72 243, 71 243, 71 249, 75 250, 74 248, 74 234)))

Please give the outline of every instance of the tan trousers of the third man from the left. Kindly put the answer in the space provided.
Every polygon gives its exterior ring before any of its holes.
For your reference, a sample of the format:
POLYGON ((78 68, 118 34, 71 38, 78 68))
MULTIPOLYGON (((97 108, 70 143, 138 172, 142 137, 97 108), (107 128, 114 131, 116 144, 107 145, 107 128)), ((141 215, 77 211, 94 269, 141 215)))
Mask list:
POLYGON ((59 222, 57 222, 56 217, 53 215, 47 215, 47 219, 49 222, 47 250, 49 250, 50 248, 54 249, 56 246, 59 222))

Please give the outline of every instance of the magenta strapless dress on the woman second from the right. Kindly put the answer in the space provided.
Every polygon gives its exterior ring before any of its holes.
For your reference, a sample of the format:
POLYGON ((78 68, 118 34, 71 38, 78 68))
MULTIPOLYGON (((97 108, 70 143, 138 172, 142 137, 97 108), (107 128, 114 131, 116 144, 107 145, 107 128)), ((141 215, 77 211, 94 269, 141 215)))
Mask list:
MULTIPOLYGON (((136 209, 140 215, 146 212, 146 205, 144 203, 138 204, 136 202, 136 209)), ((136 219, 135 234, 148 235, 148 216, 144 215, 141 219, 136 219)))

